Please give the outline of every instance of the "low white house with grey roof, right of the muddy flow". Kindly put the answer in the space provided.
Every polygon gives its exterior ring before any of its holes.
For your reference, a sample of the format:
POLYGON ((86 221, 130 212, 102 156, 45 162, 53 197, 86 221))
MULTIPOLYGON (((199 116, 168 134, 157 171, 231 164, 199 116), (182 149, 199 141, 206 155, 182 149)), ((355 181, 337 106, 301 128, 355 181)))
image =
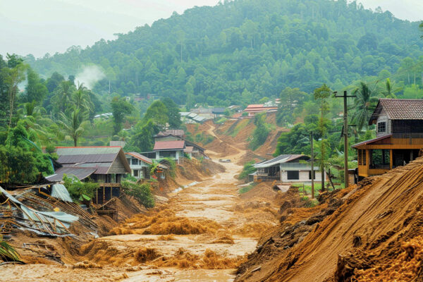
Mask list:
MULTIPOLYGON (((282 183, 309 182, 312 180, 310 158, 303 154, 281 154, 253 166, 255 180, 280 180, 282 183)), ((319 166, 314 166, 314 180, 321 180, 319 166)))

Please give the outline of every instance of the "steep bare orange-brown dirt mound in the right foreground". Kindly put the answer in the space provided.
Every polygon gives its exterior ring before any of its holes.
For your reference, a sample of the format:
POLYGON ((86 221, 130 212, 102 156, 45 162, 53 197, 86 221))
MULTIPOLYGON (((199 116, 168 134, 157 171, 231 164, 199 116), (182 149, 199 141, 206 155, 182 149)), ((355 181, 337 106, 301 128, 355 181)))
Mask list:
POLYGON ((240 266, 236 281, 416 281, 422 200, 422 158, 366 178, 328 195, 327 207, 308 219, 289 226, 283 220, 240 266))

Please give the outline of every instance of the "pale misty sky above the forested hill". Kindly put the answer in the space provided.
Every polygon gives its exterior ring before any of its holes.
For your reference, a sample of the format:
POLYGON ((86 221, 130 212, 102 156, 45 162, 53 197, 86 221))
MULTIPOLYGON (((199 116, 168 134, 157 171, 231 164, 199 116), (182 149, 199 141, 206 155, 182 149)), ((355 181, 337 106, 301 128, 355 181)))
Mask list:
MULTIPOLYGON (((44 56, 114 39, 137 26, 219 0, 0 0, 0 54, 44 56)), ((360 1, 358 1, 360 2, 360 1)), ((423 20, 422 0, 362 0, 366 8, 423 20)))

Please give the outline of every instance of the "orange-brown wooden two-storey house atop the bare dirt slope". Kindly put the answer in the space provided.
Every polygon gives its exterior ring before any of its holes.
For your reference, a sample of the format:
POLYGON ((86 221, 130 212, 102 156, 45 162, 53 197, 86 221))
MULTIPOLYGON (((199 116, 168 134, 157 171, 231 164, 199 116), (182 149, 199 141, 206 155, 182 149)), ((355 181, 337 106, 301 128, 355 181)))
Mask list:
POLYGON ((423 99, 379 99, 369 120, 376 138, 353 145, 358 179, 385 173, 419 156, 423 148, 423 99))

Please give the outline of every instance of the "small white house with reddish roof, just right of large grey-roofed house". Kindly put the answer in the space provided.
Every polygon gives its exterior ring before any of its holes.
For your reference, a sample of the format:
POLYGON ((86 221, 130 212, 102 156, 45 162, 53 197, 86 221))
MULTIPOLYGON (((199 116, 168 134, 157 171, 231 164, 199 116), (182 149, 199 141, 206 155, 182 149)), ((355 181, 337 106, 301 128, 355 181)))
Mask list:
MULTIPOLYGON (((125 153, 125 156, 130 166, 131 176, 137 179, 150 178, 150 168, 153 164, 152 159, 149 159, 137 152, 128 152, 125 153)), ((168 169, 168 167, 164 164, 159 164, 159 168, 159 176, 160 178, 164 178, 164 170, 168 169)))

